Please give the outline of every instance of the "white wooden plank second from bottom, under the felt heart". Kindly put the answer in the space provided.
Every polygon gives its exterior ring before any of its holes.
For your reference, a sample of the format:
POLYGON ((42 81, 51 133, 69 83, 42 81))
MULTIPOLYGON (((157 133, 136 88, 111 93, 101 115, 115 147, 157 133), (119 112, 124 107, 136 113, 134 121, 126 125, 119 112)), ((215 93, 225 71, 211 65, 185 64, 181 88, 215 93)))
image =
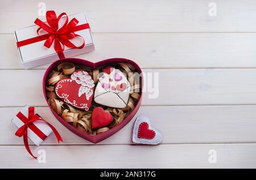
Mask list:
MULTIPOLYGON (((0 145, 23 144, 10 122, 19 109, 0 108, 0 145)), ((64 140, 61 144, 92 144, 61 125, 49 108, 36 107, 36 112, 57 128, 64 140)), ((139 114, 151 118, 152 126, 162 132, 164 144, 256 143, 256 106, 142 106, 121 131, 99 144, 131 144, 133 124, 139 114)), ((49 136, 43 144, 57 144, 55 136, 49 136)))

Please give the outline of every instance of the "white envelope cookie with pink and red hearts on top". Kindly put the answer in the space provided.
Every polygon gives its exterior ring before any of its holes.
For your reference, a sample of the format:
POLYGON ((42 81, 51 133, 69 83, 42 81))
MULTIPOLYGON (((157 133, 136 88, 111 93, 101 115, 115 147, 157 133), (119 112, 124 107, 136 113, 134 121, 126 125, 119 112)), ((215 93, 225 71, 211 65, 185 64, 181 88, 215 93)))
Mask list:
POLYGON ((94 90, 94 101, 111 108, 125 108, 129 100, 131 84, 120 70, 104 68, 94 90))

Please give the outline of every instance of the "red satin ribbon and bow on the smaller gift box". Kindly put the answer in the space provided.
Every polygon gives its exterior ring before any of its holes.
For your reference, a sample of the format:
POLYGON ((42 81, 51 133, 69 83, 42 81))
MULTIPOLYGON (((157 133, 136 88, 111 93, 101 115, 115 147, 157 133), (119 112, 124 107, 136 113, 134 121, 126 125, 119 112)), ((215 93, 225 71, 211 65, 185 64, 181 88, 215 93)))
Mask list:
POLYGON ((57 132, 55 127, 53 127, 50 123, 48 123, 44 119, 42 119, 38 114, 34 114, 34 112, 35 112, 35 108, 29 107, 28 108, 28 117, 24 116, 20 112, 16 115, 16 117, 18 117, 24 123, 24 125, 21 126, 20 128, 18 128, 15 135, 19 136, 19 137, 23 136, 23 141, 24 141, 24 145, 27 149, 27 152, 30 153, 30 155, 36 159, 37 157, 35 157, 32 154, 32 152, 30 151, 30 147, 28 145, 27 128, 30 128, 32 131, 34 131, 35 134, 38 135, 39 138, 42 140, 46 139, 47 136, 42 131, 40 131, 40 129, 38 127, 36 127, 33 124, 33 122, 35 122, 35 121, 45 122, 49 127, 51 127, 52 131, 54 132, 54 134, 57 138, 58 143, 60 143, 60 141, 63 142, 63 140, 61 139, 61 136, 60 136, 59 132, 57 132))

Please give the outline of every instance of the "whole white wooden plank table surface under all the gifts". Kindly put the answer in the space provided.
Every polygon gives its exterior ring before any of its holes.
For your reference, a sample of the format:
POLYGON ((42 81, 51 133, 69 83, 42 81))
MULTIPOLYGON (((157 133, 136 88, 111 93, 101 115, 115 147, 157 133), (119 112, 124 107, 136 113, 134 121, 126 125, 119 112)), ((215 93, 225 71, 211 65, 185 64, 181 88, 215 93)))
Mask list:
POLYGON ((134 119, 93 145, 53 117, 42 91, 49 65, 24 70, 13 34, 44 19, 39 2, 0 2, 0 168, 256 168, 255 1, 214 0, 216 16, 204 0, 43 1, 57 14, 86 11, 96 50, 79 58, 125 57, 144 72, 159 72, 159 97, 145 94, 137 113, 162 132, 157 146, 132 145, 134 119), (31 145, 35 154, 46 150, 45 164, 32 160, 14 136, 10 120, 26 104, 64 139, 56 145, 51 135, 31 145))

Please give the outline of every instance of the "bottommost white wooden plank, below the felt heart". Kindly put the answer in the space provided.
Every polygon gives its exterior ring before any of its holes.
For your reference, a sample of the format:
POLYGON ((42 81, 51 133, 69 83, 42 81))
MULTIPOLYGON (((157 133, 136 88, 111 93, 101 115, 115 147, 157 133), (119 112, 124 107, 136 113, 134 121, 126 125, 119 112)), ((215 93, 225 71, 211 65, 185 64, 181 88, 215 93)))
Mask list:
POLYGON ((32 147, 35 155, 39 149, 46 152, 46 163, 32 159, 23 146, 1 145, 0 168, 256 168, 256 144, 32 147), (209 163, 212 149, 216 163, 209 163))

